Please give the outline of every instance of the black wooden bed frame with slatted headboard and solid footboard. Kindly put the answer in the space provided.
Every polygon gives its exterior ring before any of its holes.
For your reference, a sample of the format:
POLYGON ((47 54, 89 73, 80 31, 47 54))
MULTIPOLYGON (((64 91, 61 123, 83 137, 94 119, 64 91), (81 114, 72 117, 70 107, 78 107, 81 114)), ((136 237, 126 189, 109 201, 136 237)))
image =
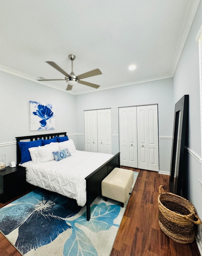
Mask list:
MULTIPOLYGON (((27 135, 23 137, 16 137, 17 141, 17 165, 21 162, 19 141, 33 141, 39 139, 52 139, 55 136, 63 137, 67 133, 52 133, 52 134, 37 134, 27 135)), ((97 170, 88 175, 86 179, 86 219, 87 221, 91 218, 91 203, 95 198, 101 194, 101 182, 102 180, 115 168, 120 167, 120 153, 114 155, 111 159, 101 165, 97 170)))

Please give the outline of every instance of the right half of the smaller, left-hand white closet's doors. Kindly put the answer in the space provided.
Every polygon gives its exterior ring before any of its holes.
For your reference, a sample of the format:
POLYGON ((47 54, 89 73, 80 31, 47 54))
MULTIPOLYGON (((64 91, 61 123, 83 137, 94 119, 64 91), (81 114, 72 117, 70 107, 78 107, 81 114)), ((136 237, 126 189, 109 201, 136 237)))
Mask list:
POLYGON ((111 154, 111 109, 98 109, 98 152, 111 154))

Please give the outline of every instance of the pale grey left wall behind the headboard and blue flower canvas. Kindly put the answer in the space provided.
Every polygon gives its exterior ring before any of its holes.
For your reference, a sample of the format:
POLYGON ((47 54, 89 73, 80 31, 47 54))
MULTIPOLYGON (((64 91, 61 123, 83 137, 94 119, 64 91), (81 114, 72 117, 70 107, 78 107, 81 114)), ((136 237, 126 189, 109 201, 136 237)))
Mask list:
POLYGON ((75 96, 0 71, 0 154, 6 165, 16 161, 15 137, 31 134, 67 132, 74 139, 76 131, 75 96), (56 106, 55 130, 30 131, 29 101, 56 106))

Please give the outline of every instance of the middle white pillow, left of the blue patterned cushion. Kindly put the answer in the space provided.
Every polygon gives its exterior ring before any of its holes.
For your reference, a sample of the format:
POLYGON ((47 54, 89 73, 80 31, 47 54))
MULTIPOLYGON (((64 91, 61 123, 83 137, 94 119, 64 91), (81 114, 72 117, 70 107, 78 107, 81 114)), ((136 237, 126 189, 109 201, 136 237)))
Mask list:
POLYGON ((50 144, 47 144, 45 146, 39 146, 36 150, 37 164, 54 160, 52 152, 59 150, 58 144, 58 142, 51 142, 50 144))

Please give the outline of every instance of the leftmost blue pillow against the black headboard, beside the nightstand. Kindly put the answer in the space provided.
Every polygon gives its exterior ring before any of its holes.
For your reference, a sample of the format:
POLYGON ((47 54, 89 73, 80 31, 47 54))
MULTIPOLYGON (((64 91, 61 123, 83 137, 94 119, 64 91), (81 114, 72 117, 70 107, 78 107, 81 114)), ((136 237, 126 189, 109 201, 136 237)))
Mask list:
POLYGON ((21 164, 23 164, 25 162, 32 160, 28 148, 41 146, 41 139, 27 142, 19 141, 18 145, 20 147, 21 152, 21 164))

